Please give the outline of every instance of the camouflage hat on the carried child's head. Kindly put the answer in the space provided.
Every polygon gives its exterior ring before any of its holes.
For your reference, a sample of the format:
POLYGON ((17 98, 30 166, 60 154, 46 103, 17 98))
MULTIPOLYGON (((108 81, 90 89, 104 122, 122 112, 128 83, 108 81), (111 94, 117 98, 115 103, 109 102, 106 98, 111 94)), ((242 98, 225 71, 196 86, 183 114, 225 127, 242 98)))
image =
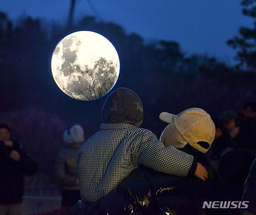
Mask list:
POLYGON ((118 88, 105 101, 101 117, 104 123, 127 123, 139 127, 143 106, 139 96, 126 88, 118 88))

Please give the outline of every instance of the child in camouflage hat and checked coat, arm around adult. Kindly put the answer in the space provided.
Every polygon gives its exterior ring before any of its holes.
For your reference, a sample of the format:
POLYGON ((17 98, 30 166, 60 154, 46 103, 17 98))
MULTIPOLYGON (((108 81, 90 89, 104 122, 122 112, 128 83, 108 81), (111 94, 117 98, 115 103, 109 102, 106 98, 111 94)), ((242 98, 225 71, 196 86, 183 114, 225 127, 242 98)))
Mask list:
POLYGON ((139 126, 143 106, 126 88, 111 93, 103 106, 103 124, 77 153, 80 195, 84 204, 96 203, 117 188, 142 164, 156 171, 205 180, 206 169, 193 156, 173 146, 164 147, 156 135, 139 126))

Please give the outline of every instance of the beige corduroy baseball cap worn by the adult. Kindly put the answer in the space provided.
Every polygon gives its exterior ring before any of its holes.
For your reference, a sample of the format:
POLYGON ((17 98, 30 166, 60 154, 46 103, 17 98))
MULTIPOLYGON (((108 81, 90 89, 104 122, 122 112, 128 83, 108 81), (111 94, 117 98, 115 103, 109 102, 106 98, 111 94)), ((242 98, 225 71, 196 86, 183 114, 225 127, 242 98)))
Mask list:
POLYGON ((169 123, 160 140, 165 146, 183 148, 187 143, 202 153, 206 153, 215 137, 215 125, 207 112, 200 108, 190 108, 178 115, 162 112, 159 118, 169 123), (198 142, 207 142, 204 148, 198 142))

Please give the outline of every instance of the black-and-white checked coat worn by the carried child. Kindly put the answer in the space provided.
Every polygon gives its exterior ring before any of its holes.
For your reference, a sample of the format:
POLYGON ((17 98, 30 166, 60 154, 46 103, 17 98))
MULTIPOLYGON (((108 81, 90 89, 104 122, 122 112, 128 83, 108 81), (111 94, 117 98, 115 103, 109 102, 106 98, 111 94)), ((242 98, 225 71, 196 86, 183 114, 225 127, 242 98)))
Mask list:
POLYGON ((186 176, 193 156, 164 147, 151 131, 124 123, 101 124, 77 153, 82 201, 95 202, 114 190, 139 164, 186 176))

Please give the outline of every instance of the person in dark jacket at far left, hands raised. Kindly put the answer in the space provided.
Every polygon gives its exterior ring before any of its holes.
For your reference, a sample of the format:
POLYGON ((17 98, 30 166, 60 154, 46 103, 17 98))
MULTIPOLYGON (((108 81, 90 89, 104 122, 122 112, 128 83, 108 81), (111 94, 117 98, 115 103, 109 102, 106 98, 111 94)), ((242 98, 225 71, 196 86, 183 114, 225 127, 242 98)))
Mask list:
POLYGON ((21 215, 24 194, 23 174, 32 175, 37 164, 20 143, 11 137, 11 128, 0 125, 0 215, 21 215))

